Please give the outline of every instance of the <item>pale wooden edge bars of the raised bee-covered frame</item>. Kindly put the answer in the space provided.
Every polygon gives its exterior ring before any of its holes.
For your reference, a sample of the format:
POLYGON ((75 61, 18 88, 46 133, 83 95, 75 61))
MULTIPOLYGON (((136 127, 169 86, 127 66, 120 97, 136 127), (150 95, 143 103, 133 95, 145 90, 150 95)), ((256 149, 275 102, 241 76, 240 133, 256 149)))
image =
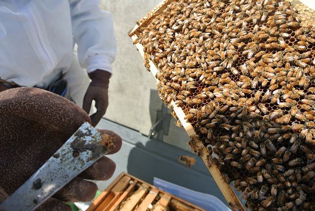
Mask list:
MULTIPOLYGON (((162 11, 167 7, 168 4, 170 4, 171 2, 173 2, 174 0, 163 0, 161 1, 154 9, 152 9, 148 15, 146 15, 144 18, 142 18, 138 24, 136 24, 129 32, 128 35, 131 37, 131 39, 137 40, 138 39, 138 35, 141 32, 141 27, 146 27, 148 25, 148 23, 150 23, 150 21, 154 18, 155 14, 157 13, 162 13, 162 11)), ((144 51, 143 51, 143 46, 142 44, 140 44, 139 42, 135 43, 138 51, 140 52, 140 54, 142 55, 142 57, 144 57, 144 51)), ((158 73, 158 67, 157 65, 149 59, 149 64, 150 64, 150 71, 153 74, 153 76, 155 77, 156 74, 158 73)), ((155 77, 156 78, 156 77, 155 77)), ((157 82, 158 79, 156 78, 157 82)), ((196 135, 194 128, 192 127, 192 125, 186 121, 185 118, 185 114, 184 111, 182 110, 181 107, 178 107, 175 102, 172 100, 170 102, 170 105, 173 107, 174 112, 176 113, 178 119, 181 121, 183 127, 185 128, 186 132, 188 133, 189 137, 191 135, 196 135)), ((198 147, 202 147, 202 153, 201 153, 201 158, 204 161, 205 165, 207 166, 210 174, 212 175, 212 177, 214 178, 214 180, 216 181, 218 187, 220 188, 224 198, 226 199, 227 203, 230 205, 230 207, 232 207, 231 205, 233 205, 234 207, 239 208, 240 211, 245 211, 244 206, 242 205, 242 203, 240 202, 239 198, 236 196, 234 190, 232 189, 231 185, 228 184, 220 170, 219 167, 214 163, 211 162, 212 165, 209 166, 208 165, 208 159, 209 156, 207 157, 207 155, 209 154, 208 150, 206 149, 206 147, 203 145, 202 142, 197 141, 196 145, 198 147)), ((211 156, 210 156, 210 159, 211 156)))

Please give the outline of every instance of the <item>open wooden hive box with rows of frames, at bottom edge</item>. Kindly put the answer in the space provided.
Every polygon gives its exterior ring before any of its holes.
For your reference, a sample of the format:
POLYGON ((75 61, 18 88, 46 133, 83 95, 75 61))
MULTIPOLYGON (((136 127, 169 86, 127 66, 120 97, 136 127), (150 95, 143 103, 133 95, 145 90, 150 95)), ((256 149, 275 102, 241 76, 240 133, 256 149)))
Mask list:
POLYGON ((125 172, 87 211, 205 211, 125 172))

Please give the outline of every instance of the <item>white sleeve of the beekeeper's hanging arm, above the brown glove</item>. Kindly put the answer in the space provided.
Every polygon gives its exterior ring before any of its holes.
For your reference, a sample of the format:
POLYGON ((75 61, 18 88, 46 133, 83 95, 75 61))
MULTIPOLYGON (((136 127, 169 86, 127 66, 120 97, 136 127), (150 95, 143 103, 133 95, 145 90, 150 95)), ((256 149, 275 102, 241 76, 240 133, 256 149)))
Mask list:
POLYGON ((80 65, 88 73, 95 69, 112 72, 111 63, 117 53, 112 14, 99 8, 99 0, 69 0, 69 3, 80 65))

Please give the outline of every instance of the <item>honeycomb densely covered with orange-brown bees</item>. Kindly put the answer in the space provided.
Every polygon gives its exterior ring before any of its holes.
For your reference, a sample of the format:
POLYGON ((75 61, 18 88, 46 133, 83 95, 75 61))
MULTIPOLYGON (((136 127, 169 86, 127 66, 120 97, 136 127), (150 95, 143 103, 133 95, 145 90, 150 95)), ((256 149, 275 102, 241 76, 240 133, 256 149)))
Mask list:
POLYGON ((315 27, 292 4, 175 0, 135 40, 251 211, 315 210, 315 27))

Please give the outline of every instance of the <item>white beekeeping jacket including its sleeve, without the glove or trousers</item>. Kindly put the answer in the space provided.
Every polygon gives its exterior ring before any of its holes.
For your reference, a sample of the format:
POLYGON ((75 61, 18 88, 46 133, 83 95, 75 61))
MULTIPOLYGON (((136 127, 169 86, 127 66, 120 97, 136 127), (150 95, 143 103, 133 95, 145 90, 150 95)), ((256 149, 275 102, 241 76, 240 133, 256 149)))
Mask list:
POLYGON ((45 76, 69 69, 75 43, 88 73, 111 72, 117 52, 113 19, 98 3, 0 0, 0 78, 26 87, 45 86, 45 76))

